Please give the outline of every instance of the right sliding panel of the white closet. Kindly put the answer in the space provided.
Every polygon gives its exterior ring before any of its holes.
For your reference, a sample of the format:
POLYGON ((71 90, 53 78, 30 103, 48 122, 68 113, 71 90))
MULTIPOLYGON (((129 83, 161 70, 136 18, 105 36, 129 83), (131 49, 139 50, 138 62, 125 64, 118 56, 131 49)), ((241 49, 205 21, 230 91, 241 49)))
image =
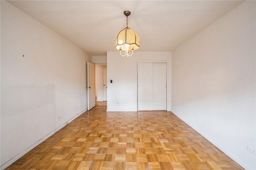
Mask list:
POLYGON ((166 110, 166 63, 153 63, 153 110, 166 110))

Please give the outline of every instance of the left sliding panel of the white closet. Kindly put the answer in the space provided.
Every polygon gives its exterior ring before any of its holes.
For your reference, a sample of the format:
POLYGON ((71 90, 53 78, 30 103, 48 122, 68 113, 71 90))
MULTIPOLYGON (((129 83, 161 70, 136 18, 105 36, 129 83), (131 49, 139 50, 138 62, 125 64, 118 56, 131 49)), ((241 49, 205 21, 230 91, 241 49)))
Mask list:
POLYGON ((138 63, 138 110, 153 110, 152 63, 138 63))

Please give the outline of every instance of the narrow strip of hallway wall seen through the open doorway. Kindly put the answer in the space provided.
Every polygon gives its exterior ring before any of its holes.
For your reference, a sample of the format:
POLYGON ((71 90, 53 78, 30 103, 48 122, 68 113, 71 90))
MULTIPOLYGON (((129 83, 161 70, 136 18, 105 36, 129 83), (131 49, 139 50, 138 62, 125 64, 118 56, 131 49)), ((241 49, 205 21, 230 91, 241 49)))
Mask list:
POLYGON ((103 101, 103 68, 107 65, 95 65, 97 101, 103 101))

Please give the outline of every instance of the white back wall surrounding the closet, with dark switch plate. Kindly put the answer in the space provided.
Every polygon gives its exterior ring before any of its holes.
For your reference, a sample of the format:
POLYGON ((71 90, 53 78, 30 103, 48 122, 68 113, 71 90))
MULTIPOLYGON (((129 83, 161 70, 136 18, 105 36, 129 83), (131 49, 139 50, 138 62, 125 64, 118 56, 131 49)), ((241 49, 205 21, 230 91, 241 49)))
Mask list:
POLYGON ((171 109, 171 52, 134 51, 129 58, 107 52, 108 111, 137 111, 137 61, 168 61, 167 110, 171 109), (110 83, 113 80, 113 83, 110 83))

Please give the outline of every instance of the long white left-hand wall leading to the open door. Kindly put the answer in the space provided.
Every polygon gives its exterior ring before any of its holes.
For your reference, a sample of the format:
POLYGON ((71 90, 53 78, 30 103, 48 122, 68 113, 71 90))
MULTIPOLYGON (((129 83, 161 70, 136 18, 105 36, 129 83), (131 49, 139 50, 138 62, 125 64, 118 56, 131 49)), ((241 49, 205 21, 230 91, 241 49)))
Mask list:
POLYGON ((90 60, 68 40, 1 1, 2 169, 87 109, 90 60))

